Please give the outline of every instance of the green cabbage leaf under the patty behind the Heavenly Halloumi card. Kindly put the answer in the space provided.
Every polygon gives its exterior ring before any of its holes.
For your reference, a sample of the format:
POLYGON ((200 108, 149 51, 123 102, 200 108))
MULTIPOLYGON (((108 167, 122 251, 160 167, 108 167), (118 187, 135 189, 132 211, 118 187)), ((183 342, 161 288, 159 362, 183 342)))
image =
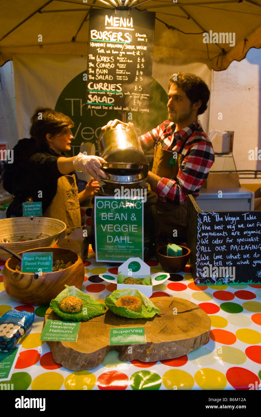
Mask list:
POLYGON ((65 285, 65 289, 58 294, 57 297, 51 300, 50 308, 64 320, 72 322, 87 322, 93 317, 100 316, 104 314, 106 306, 99 301, 96 301, 90 295, 83 294, 83 291, 76 288, 75 286, 65 285), (75 296, 80 298, 83 301, 83 307, 78 313, 65 313, 59 307, 60 302, 65 297, 75 296))

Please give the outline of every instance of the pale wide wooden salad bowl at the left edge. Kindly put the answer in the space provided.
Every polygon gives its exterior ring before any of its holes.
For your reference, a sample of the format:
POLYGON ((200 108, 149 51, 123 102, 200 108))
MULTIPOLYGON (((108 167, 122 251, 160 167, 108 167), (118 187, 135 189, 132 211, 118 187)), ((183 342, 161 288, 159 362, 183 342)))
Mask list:
MULTIPOLYGON (((28 249, 53 246, 60 234, 66 229, 66 224, 58 219, 49 217, 11 217, 0 220, 0 241, 10 239, 13 243, 1 243, 14 252, 25 252, 28 249), (43 237, 38 238, 42 234, 43 237), (32 240, 30 240, 32 239, 32 240), (21 242, 20 240, 24 240, 21 242)), ((0 249, 0 259, 7 261, 10 257, 0 249)))

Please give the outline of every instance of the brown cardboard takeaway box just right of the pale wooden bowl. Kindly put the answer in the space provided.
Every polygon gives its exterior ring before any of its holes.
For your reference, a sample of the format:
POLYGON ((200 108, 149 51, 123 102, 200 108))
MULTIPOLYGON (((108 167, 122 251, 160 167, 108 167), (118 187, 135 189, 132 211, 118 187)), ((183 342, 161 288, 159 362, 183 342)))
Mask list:
POLYGON ((69 249, 76 252, 84 261, 88 256, 89 236, 83 236, 82 227, 67 228, 60 234, 57 246, 58 248, 69 249))

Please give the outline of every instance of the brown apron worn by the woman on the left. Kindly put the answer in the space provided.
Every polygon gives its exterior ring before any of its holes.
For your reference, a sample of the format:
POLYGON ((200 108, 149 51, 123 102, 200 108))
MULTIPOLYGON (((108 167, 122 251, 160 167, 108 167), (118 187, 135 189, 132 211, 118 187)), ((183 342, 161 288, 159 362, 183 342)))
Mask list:
POLYGON ((58 179, 56 194, 43 216, 64 221, 67 227, 81 225, 78 188, 74 174, 63 175, 58 179))

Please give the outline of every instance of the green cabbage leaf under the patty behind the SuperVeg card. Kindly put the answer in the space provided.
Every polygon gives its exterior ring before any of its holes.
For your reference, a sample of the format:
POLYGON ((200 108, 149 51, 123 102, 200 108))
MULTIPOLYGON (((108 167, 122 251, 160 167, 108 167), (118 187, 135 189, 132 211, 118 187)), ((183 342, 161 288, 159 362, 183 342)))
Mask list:
POLYGON ((135 288, 116 289, 110 294, 110 296, 106 297, 104 301, 106 306, 114 314, 121 317, 129 317, 130 319, 149 319, 160 312, 160 309, 154 306, 154 304, 150 299, 146 297, 146 295, 142 294, 135 288), (115 306, 118 298, 127 295, 134 295, 141 299, 141 311, 132 311, 126 307, 115 306))

